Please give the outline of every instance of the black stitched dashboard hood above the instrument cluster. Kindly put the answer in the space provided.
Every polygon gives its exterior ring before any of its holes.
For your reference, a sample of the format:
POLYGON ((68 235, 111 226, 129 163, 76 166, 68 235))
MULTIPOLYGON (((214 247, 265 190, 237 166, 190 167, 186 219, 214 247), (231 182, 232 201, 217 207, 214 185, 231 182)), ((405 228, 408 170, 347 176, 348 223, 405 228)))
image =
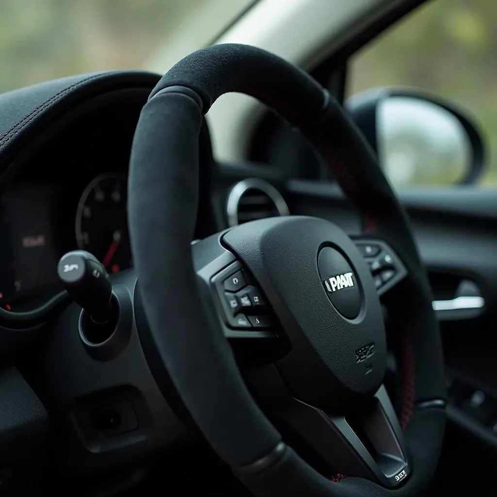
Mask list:
POLYGON ((30 141, 68 110, 107 92, 152 89, 160 75, 110 71, 71 76, 0 94, 0 174, 30 141))

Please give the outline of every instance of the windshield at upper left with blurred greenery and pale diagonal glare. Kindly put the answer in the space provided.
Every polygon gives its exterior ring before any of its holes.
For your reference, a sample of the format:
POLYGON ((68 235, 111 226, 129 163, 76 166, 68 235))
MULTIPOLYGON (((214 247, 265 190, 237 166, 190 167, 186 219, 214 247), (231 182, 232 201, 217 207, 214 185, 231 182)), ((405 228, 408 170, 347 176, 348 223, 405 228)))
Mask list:
POLYGON ((251 3, 1 0, 0 92, 93 71, 159 65, 166 72, 211 43, 251 3))

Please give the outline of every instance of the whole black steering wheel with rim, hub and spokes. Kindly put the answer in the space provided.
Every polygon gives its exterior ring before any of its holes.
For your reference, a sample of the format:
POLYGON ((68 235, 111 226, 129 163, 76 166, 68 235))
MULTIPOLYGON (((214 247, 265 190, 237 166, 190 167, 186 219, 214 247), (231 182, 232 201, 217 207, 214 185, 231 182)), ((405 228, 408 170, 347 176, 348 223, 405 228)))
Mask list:
POLYGON ((129 223, 154 374, 170 377, 205 438, 253 494, 409 496, 426 487, 445 423, 442 346, 426 271, 377 158, 319 83, 245 45, 212 46, 181 60, 138 121, 129 223), (230 91, 258 98, 313 144, 359 211, 361 236, 286 216, 191 245, 203 115, 230 91), (368 252, 383 257, 372 264, 390 270, 373 278, 368 252), (233 296, 247 283, 258 298, 245 303, 266 300, 268 316, 233 314, 240 304, 233 296), (381 303, 399 345, 399 417, 383 385, 381 303), (262 383, 340 475, 318 472, 283 441, 249 393, 226 336, 286 344, 262 383))

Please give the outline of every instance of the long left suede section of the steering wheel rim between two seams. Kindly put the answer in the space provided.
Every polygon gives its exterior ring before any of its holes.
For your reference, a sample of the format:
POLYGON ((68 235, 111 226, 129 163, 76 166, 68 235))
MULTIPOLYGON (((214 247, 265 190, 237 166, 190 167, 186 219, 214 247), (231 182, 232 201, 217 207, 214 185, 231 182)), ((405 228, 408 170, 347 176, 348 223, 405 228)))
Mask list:
POLYGON ((182 94, 164 93, 145 105, 131 153, 129 224, 145 312, 171 380, 214 449, 239 466, 273 450, 280 436, 200 305, 190 242, 201 123, 198 105, 182 94))

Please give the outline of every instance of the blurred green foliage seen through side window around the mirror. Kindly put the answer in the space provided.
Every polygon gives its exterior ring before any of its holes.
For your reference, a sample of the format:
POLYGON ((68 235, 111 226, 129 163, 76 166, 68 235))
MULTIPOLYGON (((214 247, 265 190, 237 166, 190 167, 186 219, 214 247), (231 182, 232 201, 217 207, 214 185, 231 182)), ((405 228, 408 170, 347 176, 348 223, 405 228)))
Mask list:
MULTIPOLYGON (((348 93, 414 86, 473 117, 488 147, 482 185, 497 185, 497 0, 430 0, 350 62, 348 93)), ((444 178, 439 178, 444 183, 444 178)))

